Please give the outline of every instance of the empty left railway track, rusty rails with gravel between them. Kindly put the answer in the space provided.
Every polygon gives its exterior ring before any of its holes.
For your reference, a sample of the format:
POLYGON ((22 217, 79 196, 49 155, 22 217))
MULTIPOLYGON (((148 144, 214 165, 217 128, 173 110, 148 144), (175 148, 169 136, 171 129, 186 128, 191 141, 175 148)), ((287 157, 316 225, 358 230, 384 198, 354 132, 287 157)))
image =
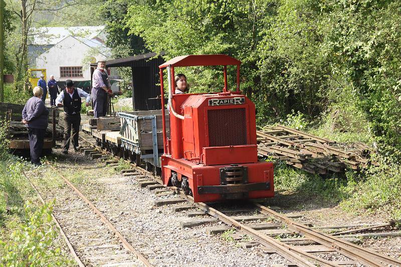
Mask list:
POLYGON ((43 197, 24 175, 43 203, 55 197, 63 203, 54 208, 52 216, 79 266, 153 266, 77 187, 47 163, 69 187, 43 197))

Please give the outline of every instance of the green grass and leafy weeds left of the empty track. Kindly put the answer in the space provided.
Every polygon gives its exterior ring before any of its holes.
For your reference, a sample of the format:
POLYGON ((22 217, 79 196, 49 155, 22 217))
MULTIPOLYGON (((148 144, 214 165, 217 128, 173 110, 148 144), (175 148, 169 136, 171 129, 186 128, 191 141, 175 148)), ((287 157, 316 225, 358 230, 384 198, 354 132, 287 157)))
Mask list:
POLYGON ((50 216, 53 203, 42 205, 22 174, 31 164, 6 153, 0 158, 0 265, 73 266, 69 253, 60 249, 59 232, 50 216))

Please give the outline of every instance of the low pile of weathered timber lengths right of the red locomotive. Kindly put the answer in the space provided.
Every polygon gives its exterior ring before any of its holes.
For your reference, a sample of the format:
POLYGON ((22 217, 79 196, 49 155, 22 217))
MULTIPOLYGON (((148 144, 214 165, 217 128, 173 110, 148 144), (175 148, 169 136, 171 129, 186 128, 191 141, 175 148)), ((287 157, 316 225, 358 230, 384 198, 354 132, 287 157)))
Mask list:
POLYGON ((368 164, 369 147, 362 143, 337 144, 283 125, 257 131, 258 154, 273 156, 310 173, 344 172, 347 167, 358 170, 368 164))

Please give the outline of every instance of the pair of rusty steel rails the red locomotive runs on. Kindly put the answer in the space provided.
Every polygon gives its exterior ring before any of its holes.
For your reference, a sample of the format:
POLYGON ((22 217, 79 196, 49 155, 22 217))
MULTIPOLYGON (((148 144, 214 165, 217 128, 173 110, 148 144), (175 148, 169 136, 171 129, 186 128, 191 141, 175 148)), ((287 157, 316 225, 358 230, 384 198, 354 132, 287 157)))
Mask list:
MULTIPOLYGON (((80 137, 81 138, 81 137, 80 137)), ((91 144, 88 140, 82 137, 82 139, 89 143, 92 147, 97 147, 93 144, 91 144)), ((105 149, 98 148, 100 151, 105 151, 106 153, 109 153, 105 149)), ((141 167, 136 166, 134 163, 131 163, 130 161, 126 160, 128 163, 131 164, 131 166, 136 169, 138 172, 142 173, 143 175, 146 175, 148 177, 153 178, 157 182, 162 184, 162 181, 159 179, 159 177, 156 177, 153 175, 153 173, 144 170, 141 167)), ((226 223, 227 225, 234 226, 245 233, 249 234, 252 236, 255 240, 257 240, 259 243, 265 246, 272 247, 273 250, 275 250, 277 253, 280 255, 284 256, 288 260, 290 260, 292 263, 297 264, 298 266, 336 266, 339 267, 340 265, 336 264, 335 262, 330 262, 328 260, 325 260, 323 258, 320 258, 318 256, 315 256, 311 253, 302 251, 301 249, 291 246, 289 244, 286 244, 284 242, 281 242, 275 238, 272 238, 266 234, 263 234, 261 232, 258 232, 257 230, 242 224, 241 222, 238 222, 231 218, 230 216, 225 215, 224 213, 210 207, 209 205, 202 203, 202 202, 193 202, 193 198, 191 196, 185 195, 181 189, 171 186, 169 187, 171 190, 173 190, 176 194, 178 194, 180 197, 184 198, 197 208, 204 210, 206 213, 209 215, 221 220, 222 222, 226 223)), ((268 209, 265 206, 262 206, 260 204, 255 203, 258 206, 258 209, 261 213, 263 214, 270 214, 274 215, 279 220, 281 220, 283 223, 287 224, 290 229, 295 230, 295 232, 301 232, 304 234, 307 238, 316 241, 320 244, 323 244, 327 247, 333 248, 336 251, 340 252, 341 254, 350 257, 352 259, 356 259, 366 265, 370 266, 385 266, 385 262, 388 264, 393 264, 393 265, 401 265, 401 261, 398 261, 396 259, 392 259, 390 257, 387 257, 385 255, 382 255, 380 253, 365 249, 363 247, 357 246, 355 244, 346 242, 341 240, 338 237, 330 236, 327 234, 322 234, 320 231, 310 228, 302 223, 293 221, 277 212, 272 211, 273 213, 270 213, 270 209, 268 209)))

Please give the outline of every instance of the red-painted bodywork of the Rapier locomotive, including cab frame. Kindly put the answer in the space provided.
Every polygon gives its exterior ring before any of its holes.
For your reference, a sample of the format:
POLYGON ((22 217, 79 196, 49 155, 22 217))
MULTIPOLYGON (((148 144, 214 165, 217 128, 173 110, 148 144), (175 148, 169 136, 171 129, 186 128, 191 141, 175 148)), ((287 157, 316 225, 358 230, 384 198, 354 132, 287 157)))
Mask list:
MULTIPOLYGON (((249 192, 249 198, 274 196, 273 164, 258 161, 255 105, 246 96, 241 95, 239 92, 240 64, 240 61, 226 55, 190 55, 176 57, 159 66, 161 78, 160 89, 162 95, 164 95, 162 69, 167 66, 170 66, 171 68, 172 88, 175 87, 174 67, 224 66, 224 93, 173 95, 172 106, 178 114, 184 116, 184 120, 176 118, 170 112, 171 139, 166 139, 164 135, 164 155, 161 156, 163 183, 165 185, 168 184, 171 178, 171 171, 178 173, 179 180, 181 176, 188 177, 189 187, 192 190, 194 201, 196 202, 221 200, 220 194, 198 194, 197 186, 220 185, 220 168, 224 168, 230 164, 238 164, 248 167, 248 183, 270 182, 269 190, 251 191, 249 192), (237 66, 237 92, 235 93, 227 92, 226 90, 228 86, 227 65, 237 66), (209 105, 209 100, 212 99, 224 100, 233 99, 235 97, 244 98, 244 103, 209 105), (242 110, 240 113, 236 113, 235 110, 237 109, 242 110), (218 114, 220 114, 220 112, 226 112, 227 110, 234 111, 234 113, 230 113, 229 111, 227 114, 241 114, 242 118, 229 116, 219 119, 221 120, 224 131, 231 130, 225 129, 225 125, 235 127, 233 125, 236 125, 236 122, 238 121, 239 125, 242 127, 239 129, 244 129, 244 131, 240 132, 242 138, 240 140, 243 140, 242 142, 244 143, 240 145, 211 146, 210 140, 212 139, 210 139, 209 136, 210 122, 208 121, 208 118, 210 118, 208 117, 208 111, 210 110, 211 112, 218 112, 218 114)), ((162 104, 164 104, 163 97, 161 99, 162 104)), ((216 123, 216 116, 213 117, 212 120, 215 120, 214 123, 216 123)), ((218 123, 220 123, 220 121, 218 123)), ((165 132, 164 122, 163 132, 165 132)), ((224 137, 225 133, 221 133, 219 138, 221 138, 222 135, 224 137)), ((235 140, 236 136, 233 136, 233 134, 227 135, 235 140)), ((215 144, 216 142, 217 141, 215 141, 215 144)))

